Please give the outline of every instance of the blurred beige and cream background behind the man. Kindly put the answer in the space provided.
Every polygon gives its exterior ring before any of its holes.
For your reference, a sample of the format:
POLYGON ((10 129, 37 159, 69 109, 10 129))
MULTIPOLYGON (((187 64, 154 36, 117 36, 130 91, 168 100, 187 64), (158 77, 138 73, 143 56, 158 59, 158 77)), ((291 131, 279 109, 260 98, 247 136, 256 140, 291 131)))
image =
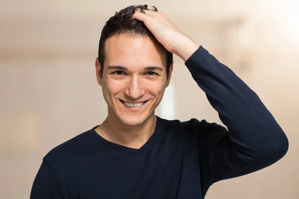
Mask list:
MULTIPOLYGON (((0 198, 29 198, 44 155, 106 118, 94 67, 100 33, 137 3, 155 5, 231 68, 289 138, 279 162, 215 183, 206 199, 299 199, 297 0, 1 0, 0 198)), ((177 56, 155 113, 222 124, 177 56)))

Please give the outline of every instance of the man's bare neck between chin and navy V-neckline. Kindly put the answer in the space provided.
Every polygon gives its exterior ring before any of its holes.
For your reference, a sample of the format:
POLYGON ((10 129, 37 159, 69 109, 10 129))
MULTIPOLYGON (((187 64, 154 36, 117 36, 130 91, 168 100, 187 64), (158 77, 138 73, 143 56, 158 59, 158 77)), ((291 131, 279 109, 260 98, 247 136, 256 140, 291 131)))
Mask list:
POLYGON ((138 126, 125 125, 119 119, 113 119, 113 117, 108 115, 102 126, 98 126, 95 130, 110 142, 140 149, 149 140, 154 132, 155 125, 156 117, 154 114, 138 126))

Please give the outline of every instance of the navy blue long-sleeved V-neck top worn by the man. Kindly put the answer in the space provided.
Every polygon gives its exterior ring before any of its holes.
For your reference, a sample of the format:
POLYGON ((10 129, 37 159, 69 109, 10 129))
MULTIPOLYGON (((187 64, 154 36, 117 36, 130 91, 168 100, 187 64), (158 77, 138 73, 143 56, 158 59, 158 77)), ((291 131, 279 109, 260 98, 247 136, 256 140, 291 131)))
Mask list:
POLYGON ((133 149, 105 140, 95 126, 43 158, 30 199, 203 199, 213 183, 287 153, 282 128, 228 67, 202 46, 185 65, 227 129, 157 116, 149 140, 133 149))

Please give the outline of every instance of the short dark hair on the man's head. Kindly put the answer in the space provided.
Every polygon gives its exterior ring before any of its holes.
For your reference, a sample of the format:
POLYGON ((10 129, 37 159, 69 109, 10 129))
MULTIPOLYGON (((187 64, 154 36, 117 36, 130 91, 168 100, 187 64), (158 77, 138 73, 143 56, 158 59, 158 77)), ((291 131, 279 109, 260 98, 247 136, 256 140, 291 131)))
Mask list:
MULTIPOLYGON (((152 6, 154 11, 158 11, 155 6, 152 6)), ((129 7, 126 7, 119 12, 115 12, 115 15, 110 17, 109 20, 106 22, 105 26, 103 27, 103 30, 101 32, 101 38, 99 42, 99 55, 98 60, 101 64, 101 74, 103 74, 103 66, 104 66, 104 48, 106 40, 116 34, 132 34, 136 36, 148 36, 151 38, 155 37, 153 34, 149 31, 149 29, 146 27, 146 25, 137 19, 131 19, 131 17, 134 15, 135 10, 141 8, 141 9, 149 9, 148 5, 131 5, 129 7)), ((164 48, 164 47, 163 47, 164 48)), ((165 48, 164 48, 165 49, 165 48)), ((168 72, 170 65, 173 60, 173 55, 171 52, 166 51, 166 74, 168 78, 168 72)))

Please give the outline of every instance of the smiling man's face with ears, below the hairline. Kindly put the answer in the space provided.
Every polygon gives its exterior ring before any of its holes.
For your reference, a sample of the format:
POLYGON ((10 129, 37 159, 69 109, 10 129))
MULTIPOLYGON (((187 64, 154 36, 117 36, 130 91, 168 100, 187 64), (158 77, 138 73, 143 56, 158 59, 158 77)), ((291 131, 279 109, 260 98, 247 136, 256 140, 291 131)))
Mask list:
POLYGON ((97 59, 95 65, 108 117, 139 125, 154 114, 173 69, 172 62, 167 79, 165 54, 149 37, 120 34, 107 39, 102 78, 97 59))

